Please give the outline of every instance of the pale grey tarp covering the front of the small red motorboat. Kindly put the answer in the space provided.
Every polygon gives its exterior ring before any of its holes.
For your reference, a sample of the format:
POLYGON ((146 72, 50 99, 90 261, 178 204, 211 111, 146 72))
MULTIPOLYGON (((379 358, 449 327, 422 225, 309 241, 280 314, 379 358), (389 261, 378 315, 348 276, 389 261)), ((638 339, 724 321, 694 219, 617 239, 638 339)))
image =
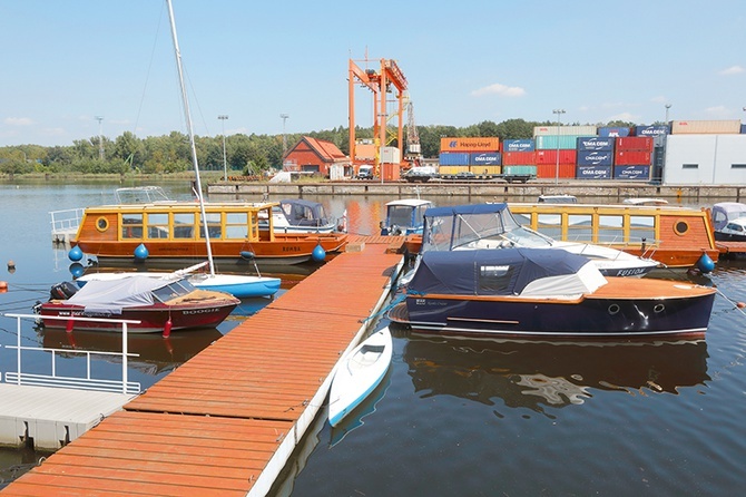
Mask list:
POLYGON ((82 305, 89 312, 120 314, 122 309, 153 305, 153 291, 170 281, 149 276, 87 282, 68 302, 82 305))

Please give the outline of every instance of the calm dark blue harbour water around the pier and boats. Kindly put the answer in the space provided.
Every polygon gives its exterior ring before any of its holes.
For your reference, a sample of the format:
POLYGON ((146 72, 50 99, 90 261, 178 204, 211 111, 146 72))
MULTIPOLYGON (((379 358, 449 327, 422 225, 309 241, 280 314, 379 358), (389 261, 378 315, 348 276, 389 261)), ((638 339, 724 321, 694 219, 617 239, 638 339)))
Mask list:
MULTIPOLYGON (((53 250, 50 242, 48 212, 109 202, 112 189, 0 185, 3 212, 20 214, 2 217, 0 280, 9 291, 0 294, 0 312, 28 313, 51 284, 69 279, 66 251, 53 250), (6 267, 10 260, 13 273, 6 267)), ((188 185, 171 192, 186 194, 188 185)), ((433 199, 441 205, 471 202, 444 198, 433 199)), ((346 208, 352 232, 376 233, 391 198, 315 199, 333 215, 346 208)), ((745 275, 746 264, 722 262, 704 282, 732 301, 746 301, 745 275)), ((298 276, 283 277, 286 289, 298 276)), ((261 305, 245 302, 242 314, 261 305)), ((159 337, 138 340, 130 349, 143 358, 130 369, 131 379, 147 388, 241 319, 217 331, 174 334, 168 344, 159 337)), ((0 343, 14 342, 14 327, 0 318, 0 343)), ((342 426, 316 423, 278 483, 278 495, 743 491, 746 315, 723 296, 715 301, 707 339, 699 342, 551 344, 394 332, 393 363, 382 387, 342 426)), ((75 340, 78 347, 116 347, 98 337, 75 340)), ((65 333, 30 324, 23 342, 71 347, 65 333)), ((67 361, 75 367, 73 359, 67 361)), ((1 349, 0 370, 13 367, 14 357, 1 349)), ((119 371, 119 364, 106 361, 97 367, 105 374, 119 371)), ((39 456, 0 451, 0 481, 39 456)))

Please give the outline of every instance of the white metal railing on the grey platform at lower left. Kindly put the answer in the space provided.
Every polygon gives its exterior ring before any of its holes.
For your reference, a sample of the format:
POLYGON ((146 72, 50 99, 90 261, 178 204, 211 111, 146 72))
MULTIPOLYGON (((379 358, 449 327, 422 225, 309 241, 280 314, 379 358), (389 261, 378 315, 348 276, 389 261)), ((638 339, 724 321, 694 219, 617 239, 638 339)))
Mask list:
POLYGON ((131 357, 139 357, 137 353, 129 353, 127 351, 127 325, 138 324, 139 321, 132 320, 114 320, 114 319, 97 319, 97 318, 71 318, 71 316, 52 316, 46 315, 45 320, 60 320, 60 321, 96 321, 106 323, 121 324, 121 352, 106 352, 106 351, 87 351, 76 349, 53 349, 40 347, 23 347, 21 345, 21 319, 38 320, 38 314, 3 314, 8 318, 16 318, 17 322, 17 343, 16 345, 4 345, 6 349, 16 350, 16 371, 8 371, 4 376, 6 383, 26 384, 35 387, 57 387, 70 388, 78 390, 96 390, 105 392, 120 392, 125 394, 138 394, 141 391, 140 383, 137 381, 129 381, 127 360, 131 357), (21 368, 22 352, 48 352, 51 353, 51 373, 36 374, 24 373, 21 368), (66 377, 57 372, 57 357, 60 353, 79 354, 86 357, 86 376, 66 377), (121 357, 121 380, 109 380, 105 378, 94 378, 91 374, 91 355, 115 355, 121 357))

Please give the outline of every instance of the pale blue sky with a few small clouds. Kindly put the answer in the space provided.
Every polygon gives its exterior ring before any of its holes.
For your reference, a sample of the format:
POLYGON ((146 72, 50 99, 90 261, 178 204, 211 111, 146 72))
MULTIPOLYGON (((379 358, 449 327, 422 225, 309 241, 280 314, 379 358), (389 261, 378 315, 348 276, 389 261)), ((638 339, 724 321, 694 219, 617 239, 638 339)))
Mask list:
MULTIPOLYGON (((743 0, 173 8, 199 136, 346 127, 350 59, 395 60, 420 126, 746 120, 743 0)), ((188 133, 166 0, 0 0, 0 146, 188 133)), ((371 127, 372 92, 353 95, 371 127)))

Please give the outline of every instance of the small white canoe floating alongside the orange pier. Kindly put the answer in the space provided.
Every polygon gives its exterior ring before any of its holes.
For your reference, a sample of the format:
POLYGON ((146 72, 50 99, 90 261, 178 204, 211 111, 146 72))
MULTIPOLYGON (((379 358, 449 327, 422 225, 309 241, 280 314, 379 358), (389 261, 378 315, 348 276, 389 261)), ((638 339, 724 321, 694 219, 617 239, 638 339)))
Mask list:
POLYGON ((332 380, 328 422, 333 427, 352 412, 389 370, 393 343, 389 328, 376 331, 342 359, 332 380))

